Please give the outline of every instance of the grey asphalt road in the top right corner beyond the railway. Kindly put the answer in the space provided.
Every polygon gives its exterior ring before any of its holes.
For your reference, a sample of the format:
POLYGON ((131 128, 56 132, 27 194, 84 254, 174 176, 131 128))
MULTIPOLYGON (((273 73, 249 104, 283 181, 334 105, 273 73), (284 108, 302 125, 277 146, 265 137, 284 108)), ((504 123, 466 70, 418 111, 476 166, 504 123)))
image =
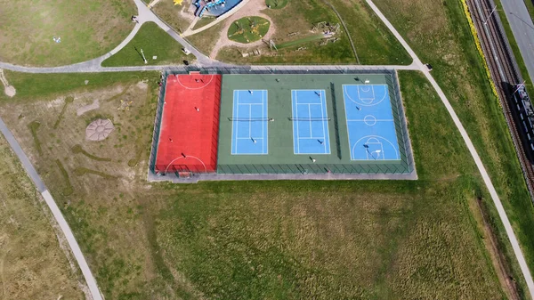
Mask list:
MULTIPOLYGON (((531 1, 531 0, 526 0, 531 1)), ((515 41, 534 84, 534 24, 523 0, 501 0, 515 41)))

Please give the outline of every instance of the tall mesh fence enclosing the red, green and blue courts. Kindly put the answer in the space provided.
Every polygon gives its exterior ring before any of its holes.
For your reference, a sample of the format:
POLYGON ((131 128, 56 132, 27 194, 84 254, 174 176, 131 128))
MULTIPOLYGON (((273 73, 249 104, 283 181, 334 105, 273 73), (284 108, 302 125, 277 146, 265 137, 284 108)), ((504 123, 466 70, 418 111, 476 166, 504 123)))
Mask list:
MULTIPOLYGON (((166 175, 175 175, 177 177, 187 177, 195 173, 203 172, 203 168, 196 166, 156 166, 156 153, 158 150, 159 130, 163 112, 163 103, 165 100, 166 77, 169 75, 187 74, 189 72, 199 71, 202 74, 384 74, 386 84, 393 91, 392 112, 398 136, 399 150, 401 152, 400 161, 380 161, 360 163, 352 162, 351 164, 248 164, 248 165, 217 165, 216 174, 412 174, 415 172, 415 161, 409 141, 408 126, 404 115, 404 108, 401 101, 401 91, 398 82, 397 71, 394 69, 360 69, 339 66, 315 66, 314 68, 304 69, 304 67, 287 66, 260 66, 260 67, 231 67, 231 68, 197 68, 194 66, 165 69, 162 73, 162 88, 159 90, 158 109, 156 120, 154 122, 154 136, 152 140, 152 149, 150 151, 150 172, 160 174, 160 170, 166 170, 166 175)), ((220 87, 219 87, 220 88, 220 87)), ((331 86, 333 100, 336 103, 334 95, 334 86, 331 86)), ((337 109, 334 106, 334 120, 336 132, 337 156, 341 157, 341 146, 339 138, 339 125, 337 124, 337 109)), ((216 118, 216 122, 219 117, 216 118)), ((214 120, 215 122, 215 120, 214 120)), ((217 127, 218 128, 218 127, 217 127)), ((218 130, 218 129, 217 129, 218 130)), ((216 151, 216 147, 215 147, 216 151)), ((216 158, 216 153, 215 153, 216 158)))

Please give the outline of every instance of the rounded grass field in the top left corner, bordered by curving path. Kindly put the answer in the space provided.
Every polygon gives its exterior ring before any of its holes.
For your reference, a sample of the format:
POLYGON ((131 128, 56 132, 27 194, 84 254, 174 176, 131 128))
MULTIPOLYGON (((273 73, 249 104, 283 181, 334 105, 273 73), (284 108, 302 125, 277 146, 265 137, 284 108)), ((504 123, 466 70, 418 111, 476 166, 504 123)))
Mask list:
POLYGON ((91 60, 128 35, 135 12, 133 1, 3 1, 0 61, 60 66, 91 60), (53 36, 61 37, 61 44, 53 36))

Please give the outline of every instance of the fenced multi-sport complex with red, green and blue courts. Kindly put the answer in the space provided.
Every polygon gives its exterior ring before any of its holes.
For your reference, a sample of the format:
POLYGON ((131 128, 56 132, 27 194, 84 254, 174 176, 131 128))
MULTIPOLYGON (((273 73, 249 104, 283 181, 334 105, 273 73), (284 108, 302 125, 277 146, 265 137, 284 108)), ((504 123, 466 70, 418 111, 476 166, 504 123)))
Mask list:
POLYGON ((394 71, 162 75, 150 180, 307 178, 417 178, 394 71))

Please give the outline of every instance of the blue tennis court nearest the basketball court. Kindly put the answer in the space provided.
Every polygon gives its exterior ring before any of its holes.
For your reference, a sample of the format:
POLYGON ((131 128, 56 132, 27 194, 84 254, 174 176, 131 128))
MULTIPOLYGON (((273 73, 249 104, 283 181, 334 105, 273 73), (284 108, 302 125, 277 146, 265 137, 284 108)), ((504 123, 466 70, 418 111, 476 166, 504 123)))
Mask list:
POLYGON ((330 154, 325 90, 291 90, 295 154, 330 154))

